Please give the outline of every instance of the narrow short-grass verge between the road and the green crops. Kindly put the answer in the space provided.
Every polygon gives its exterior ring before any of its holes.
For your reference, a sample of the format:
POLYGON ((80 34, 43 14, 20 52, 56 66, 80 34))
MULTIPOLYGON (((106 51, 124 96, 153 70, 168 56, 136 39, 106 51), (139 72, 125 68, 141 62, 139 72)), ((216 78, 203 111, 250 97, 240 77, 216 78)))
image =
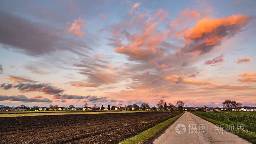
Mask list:
MULTIPOLYGON (((209 122, 211 122, 211 123, 213 123, 215 125, 221 126, 225 130, 229 130, 229 125, 224 123, 224 122, 213 120, 211 118, 208 118, 208 117, 205 117, 203 115, 197 114, 197 113, 195 113, 193 111, 189 111, 189 112, 191 112, 192 114, 197 115, 198 117, 201 117, 204 120, 209 121, 209 122)), ((205 112, 203 112, 203 113, 205 113, 205 112)), ((251 141, 252 143, 256 144, 256 133, 255 132, 248 132, 248 130, 243 130, 242 131, 242 129, 237 129, 236 127, 233 127, 232 131, 234 132, 234 134, 236 134, 238 136, 241 136, 242 138, 244 138, 244 139, 246 139, 248 141, 251 141)))

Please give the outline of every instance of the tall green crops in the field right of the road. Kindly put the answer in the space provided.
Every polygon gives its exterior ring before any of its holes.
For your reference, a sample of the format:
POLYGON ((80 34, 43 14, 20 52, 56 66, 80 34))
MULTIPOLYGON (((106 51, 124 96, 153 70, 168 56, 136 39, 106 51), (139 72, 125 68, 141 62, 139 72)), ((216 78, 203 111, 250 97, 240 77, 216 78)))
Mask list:
POLYGON ((216 121, 223 122, 227 125, 234 124, 236 127, 237 124, 244 125, 244 130, 249 132, 256 132, 256 113, 206 113, 206 112, 193 112, 204 117, 211 118, 216 121))

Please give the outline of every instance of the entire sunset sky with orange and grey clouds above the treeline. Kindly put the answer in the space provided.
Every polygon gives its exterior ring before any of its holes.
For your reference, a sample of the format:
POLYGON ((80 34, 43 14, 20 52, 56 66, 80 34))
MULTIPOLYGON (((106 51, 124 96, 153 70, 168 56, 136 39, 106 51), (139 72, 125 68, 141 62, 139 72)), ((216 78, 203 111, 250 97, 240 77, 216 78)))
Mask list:
POLYGON ((2 0, 0 105, 256 106, 256 1, 2 0))

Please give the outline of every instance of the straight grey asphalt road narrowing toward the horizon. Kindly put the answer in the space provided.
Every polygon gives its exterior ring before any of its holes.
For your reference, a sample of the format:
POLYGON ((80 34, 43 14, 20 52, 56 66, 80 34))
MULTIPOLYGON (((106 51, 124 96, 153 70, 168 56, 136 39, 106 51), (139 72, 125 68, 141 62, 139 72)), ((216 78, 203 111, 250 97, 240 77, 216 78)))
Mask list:
POLYGON ((202 118, 186 111, 176 122, 174 122, 174 124, 166 129, 166 131, 161 136, 155 139, 153 143, 244 144, 249 142, 233 133, 225 131, 225 129, 215 126, 211 122, 203 120, 202 118))

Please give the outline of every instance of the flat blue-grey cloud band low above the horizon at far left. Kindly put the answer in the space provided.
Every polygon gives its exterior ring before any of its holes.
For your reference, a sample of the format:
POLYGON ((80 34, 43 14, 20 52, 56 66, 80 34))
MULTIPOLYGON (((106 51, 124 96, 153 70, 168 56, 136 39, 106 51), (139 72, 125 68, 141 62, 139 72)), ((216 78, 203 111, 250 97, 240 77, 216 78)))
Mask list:
POLYGON ((52 100, 48 98, 27 98, 25 95, 12 95, 12 96, 6 96, 6 95, 0 95, 0 101, 18 101, 18 102, 42 102, 42 103, 52 103, 52 100))

